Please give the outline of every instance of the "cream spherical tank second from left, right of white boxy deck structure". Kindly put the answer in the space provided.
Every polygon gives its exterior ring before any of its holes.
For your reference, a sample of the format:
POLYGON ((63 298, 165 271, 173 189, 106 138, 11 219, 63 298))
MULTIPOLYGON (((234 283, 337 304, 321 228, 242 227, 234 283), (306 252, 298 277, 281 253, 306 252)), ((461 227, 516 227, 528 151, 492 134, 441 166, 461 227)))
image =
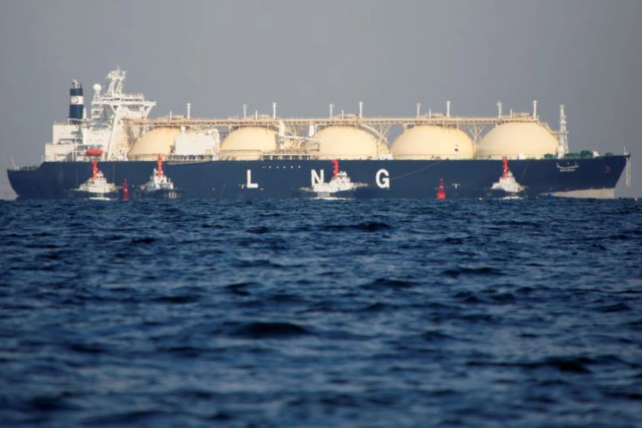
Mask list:
POLYGON ((220 144, 220 158, 251 161, 277 149, 277 131, 260 126, 236 128, 220 144))

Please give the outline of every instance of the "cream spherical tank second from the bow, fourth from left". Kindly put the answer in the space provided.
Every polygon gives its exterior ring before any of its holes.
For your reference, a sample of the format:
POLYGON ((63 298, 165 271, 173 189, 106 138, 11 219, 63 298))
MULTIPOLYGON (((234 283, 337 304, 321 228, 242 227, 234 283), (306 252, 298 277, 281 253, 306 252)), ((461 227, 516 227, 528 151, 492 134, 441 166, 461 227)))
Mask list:
POLYGON ((459 128, 421 125, 398 136, 390 151, 394 159, 470 159, 474 144, 459 128))

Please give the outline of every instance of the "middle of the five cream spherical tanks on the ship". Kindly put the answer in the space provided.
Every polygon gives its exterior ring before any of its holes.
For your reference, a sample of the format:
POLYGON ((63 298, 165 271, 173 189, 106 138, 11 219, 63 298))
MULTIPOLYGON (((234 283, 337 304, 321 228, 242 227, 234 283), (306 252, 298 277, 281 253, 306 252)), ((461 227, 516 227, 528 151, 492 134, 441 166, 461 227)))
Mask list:
POLYGON ((373 133, 352 126, 328 126, 315 133, 307 151, 319 159, 376 159, 379 143, 373 133))

